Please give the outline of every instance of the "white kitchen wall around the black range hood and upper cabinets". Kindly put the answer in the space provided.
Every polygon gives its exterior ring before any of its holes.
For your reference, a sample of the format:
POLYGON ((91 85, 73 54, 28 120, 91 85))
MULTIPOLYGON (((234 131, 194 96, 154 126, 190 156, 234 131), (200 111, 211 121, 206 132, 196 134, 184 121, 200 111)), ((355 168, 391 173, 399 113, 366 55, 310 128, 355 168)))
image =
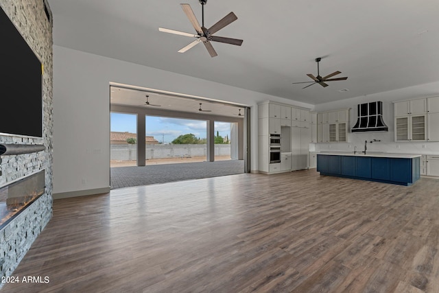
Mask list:
MULTIPOLYGON (((364 95, 352 99, 317 105, 316 111, 336 110, 339 108, 351 108, 351 128, 357 121, 357 105, 367 102, 383 102, 383 120, 388 126, 388 132, 354 132, 348 133, 349 143, 316 143, 310 146, 310 150, 316 151, 353 151, 364 150, 364 141, 368 141, 368 151, 371 152, 396 152, 406 154, 439 154, 439 142, 394 142, 394 101, 416 99, 418 97, 433 97, 439 95, 439 82, 411 86, 405 89, 387 91, 374 95, 364 95), (370 143, 373 139, 381 139, 381 142, 370 143)), ((438 127, 438 126, 434 126, 438 127)), ((351 129, 350 128, 350 129, 351 129)))

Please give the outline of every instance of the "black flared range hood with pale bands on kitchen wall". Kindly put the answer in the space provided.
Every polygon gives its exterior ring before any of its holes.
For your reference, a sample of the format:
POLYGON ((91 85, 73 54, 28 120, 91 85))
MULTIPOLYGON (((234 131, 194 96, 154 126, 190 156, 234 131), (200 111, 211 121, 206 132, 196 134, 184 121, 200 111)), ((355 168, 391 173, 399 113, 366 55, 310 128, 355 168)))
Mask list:
POLYGON ((370 102, 358 104, 357 124, 352 132, 377 132, 388 131, 389 128, 383 121, 383 102, 370 102))

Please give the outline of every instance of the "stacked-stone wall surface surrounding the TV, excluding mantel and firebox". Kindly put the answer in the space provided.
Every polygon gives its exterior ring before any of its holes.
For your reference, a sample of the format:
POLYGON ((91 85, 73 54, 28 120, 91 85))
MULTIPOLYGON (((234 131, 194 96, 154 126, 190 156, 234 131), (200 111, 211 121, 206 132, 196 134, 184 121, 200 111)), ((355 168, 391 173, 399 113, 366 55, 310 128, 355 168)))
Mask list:
MULTIPOLYGON (((23 212, 0 230, 0 277, 3 277, 12 275, 52 215, 53 21, 47 0, 0 0, 0 7, 8 14, 44 65, 43 138, 0 134, 0 143, 45 145, 43 152, 0 156, 0 186, 8 185, 39 170, 45 170, 45 194, 29 204, 23 212)), ((1 99, 7 98, 19 97, 2 97, 0 94, 0 102, 1 99)))

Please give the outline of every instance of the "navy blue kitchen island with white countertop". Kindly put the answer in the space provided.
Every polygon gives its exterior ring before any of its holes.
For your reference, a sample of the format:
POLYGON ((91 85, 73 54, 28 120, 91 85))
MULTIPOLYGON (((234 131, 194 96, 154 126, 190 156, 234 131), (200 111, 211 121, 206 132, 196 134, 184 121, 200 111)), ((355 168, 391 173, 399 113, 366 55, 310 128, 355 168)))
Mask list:
POLYGON ((320 152, 317 171, 321 175, 409 186, 420 177, 420 155, 320 152))

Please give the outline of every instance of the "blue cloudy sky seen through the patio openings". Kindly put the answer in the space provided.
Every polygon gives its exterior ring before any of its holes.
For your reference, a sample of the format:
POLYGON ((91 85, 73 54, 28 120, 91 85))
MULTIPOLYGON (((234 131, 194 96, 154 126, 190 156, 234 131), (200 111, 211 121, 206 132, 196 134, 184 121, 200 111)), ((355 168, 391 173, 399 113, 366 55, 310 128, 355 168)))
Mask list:
MULTIPOLYGON (((137 133, 137 116, 132 114, 111 113, 111 131, 137 133)), ((170 143, 181 134, 192 133, 200 139, 206 138, 206 121, 169 117, 146 116, 146 135, 170 143)), ((230 123, 215 121, 216 132, 222 137, 230 138, 230 123)))

